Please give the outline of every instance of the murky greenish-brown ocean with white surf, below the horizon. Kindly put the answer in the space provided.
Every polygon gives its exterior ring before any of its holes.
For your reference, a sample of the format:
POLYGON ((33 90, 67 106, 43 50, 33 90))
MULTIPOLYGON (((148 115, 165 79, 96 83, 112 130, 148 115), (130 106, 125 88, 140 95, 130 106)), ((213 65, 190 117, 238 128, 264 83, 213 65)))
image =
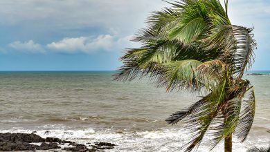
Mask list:
MULTIPOLYGON (((270 74, 270 71, 249 71, 270 74)), ((113 81, 107 72, 0 72, 0 133, 32 133, 80 143, 111 142, 108 151, 181 151, 190 134, 165 119, 199 99, 167 93, 147 80, 113 81), (46 132, 46 133, 45 133, 46 132)), ((246 142, 233 151, 269 146, 270 76, 246 75, 255 87, 256 113, 246 142)), ((206 138, 197 151, 209 151, 206 138)), ((213 151, 223 151, 221 142, 213 151)))

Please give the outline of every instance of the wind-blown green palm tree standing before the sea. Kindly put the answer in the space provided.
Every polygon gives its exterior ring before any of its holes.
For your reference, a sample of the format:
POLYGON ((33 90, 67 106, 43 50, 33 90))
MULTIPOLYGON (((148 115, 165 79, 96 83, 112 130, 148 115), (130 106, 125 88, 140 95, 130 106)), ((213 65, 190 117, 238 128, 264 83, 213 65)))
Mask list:
POLYGON ((147 28, 135 35, 141 48, 127 49, 120 58, 118 81, 148 77, 167 91, 206 94, 166 120, 186 122, 192 138, 185 151, 197 148, 206 134, 213 137, 211 149, 224 139, 225 151, 232 151, 232 133, 244 142, 253 124, 254 90, 242 79, 254 61, 253 28, 233 25, 224 2, 168 2, 172 7, 153 12, 147 28))

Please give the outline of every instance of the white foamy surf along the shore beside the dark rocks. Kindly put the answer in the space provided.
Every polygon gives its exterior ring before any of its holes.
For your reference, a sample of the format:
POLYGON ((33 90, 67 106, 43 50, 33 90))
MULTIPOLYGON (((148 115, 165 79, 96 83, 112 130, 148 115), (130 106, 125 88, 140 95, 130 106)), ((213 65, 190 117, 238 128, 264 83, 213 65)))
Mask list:
MULTIPOLYGON (((32 133, 27 129, 2 130, 1 133, 32 133)), ((158 129, 156 131, 133 131, 117 133, 112 130, 95 131, 94 129, 68 130, 52 129, 36 132, 41 137, 59 137, 62 140, 71 140, 78 143, 111 142, 117 144, 109 151, 181 151, 181 146, 188 142, 190 135, 182 129, 158 129)), ((209 151, 207 141, 204 140, 199 146, 198 152, 209 151)), ((253 146, 269 146, 270 139, 267 136, 252 137, 244 143, 233 140, 233 151, 246 151, 253 146)), ((213 152, 222 151, 224 144, 217 144, 213 152)))

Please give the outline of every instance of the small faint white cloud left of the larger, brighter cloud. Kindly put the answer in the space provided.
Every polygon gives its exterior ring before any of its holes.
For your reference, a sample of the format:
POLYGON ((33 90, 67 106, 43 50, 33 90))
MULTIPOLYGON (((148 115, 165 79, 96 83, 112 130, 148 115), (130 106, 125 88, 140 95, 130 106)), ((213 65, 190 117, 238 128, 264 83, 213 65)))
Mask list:
POLYGON ((8 44, 8 46, 25 53, 46 53, 42 46, 40 44, 36 44, 33 40, 25 42, 14 41, 11 44, 8 44))

